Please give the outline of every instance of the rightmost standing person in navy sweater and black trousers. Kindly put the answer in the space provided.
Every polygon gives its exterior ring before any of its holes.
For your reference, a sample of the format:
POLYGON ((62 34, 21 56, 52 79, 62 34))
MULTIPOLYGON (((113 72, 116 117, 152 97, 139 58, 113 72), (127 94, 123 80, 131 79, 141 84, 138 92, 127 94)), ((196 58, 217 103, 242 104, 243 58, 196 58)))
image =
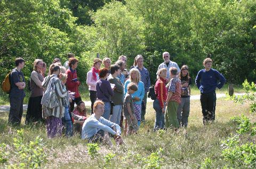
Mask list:
POLYGON ((203 123, 215 120, 216 93, 225 84, 226 79, 217 70, 211 69, 212 60, 206 58, 203 62, 205 69, 200 70, 196 76, 196 86, 201 92, 200 101, 203 113, 203 123))

